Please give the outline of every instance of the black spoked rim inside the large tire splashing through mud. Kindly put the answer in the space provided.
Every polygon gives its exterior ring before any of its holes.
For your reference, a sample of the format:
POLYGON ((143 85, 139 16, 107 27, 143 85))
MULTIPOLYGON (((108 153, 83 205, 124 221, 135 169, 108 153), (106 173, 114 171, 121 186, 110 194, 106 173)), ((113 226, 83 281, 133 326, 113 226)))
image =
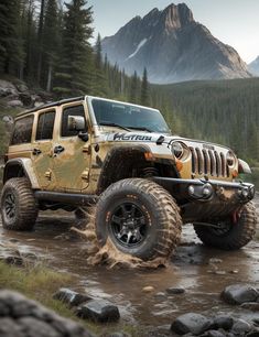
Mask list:
POLYGON ((110 215, 110 231, 116 241, 127 248, 140 246, 148 235, 148 219, 134 203, 122 203, 110 215))

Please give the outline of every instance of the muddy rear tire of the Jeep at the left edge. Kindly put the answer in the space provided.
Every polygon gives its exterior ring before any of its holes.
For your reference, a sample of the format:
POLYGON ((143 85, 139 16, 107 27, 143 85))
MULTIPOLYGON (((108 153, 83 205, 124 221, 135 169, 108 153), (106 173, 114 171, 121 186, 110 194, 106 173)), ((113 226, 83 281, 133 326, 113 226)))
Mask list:
POLYGON ((37 205, 25 177, 8 181, 1 195, 2 226, 10 230, 31 230, 37 218, 37 205))

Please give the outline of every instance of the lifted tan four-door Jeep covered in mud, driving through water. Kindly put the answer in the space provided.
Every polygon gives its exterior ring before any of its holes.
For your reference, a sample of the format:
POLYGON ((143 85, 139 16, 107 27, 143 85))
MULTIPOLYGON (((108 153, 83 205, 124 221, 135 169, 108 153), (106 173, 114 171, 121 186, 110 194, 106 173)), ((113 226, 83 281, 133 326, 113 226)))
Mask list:
POLYGON ((160 111, 78 97, 20 113, 6 157, 6 229, 37 213, 80 214, 96 203, 96 233, 144 260, 169 257, 183 224, 207 246, 233 250, 256 231, 247 163, 228 148, 172 135, 160 111))

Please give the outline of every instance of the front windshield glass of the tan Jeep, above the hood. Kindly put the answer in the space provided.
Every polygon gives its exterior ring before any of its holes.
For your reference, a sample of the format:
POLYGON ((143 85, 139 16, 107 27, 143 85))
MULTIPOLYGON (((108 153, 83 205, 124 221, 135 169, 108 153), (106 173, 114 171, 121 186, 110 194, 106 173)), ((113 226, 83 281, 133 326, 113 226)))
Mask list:
POLYGON ((99 126, 170 133, 159 110, 102 99, 93 99, 91 106, 99 126))

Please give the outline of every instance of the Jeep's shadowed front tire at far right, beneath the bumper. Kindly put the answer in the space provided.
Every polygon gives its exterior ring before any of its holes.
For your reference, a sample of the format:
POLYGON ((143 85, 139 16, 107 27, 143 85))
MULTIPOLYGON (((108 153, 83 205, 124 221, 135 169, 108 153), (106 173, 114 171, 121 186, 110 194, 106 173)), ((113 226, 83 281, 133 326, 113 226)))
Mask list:
POLYGON ((223 250, 236 250, 252 240, 257 227, 257 214, 253 203, 246 204, 237 222, 222 222, 219 229, 194 225, 198 238, 204 244, 223 250))

